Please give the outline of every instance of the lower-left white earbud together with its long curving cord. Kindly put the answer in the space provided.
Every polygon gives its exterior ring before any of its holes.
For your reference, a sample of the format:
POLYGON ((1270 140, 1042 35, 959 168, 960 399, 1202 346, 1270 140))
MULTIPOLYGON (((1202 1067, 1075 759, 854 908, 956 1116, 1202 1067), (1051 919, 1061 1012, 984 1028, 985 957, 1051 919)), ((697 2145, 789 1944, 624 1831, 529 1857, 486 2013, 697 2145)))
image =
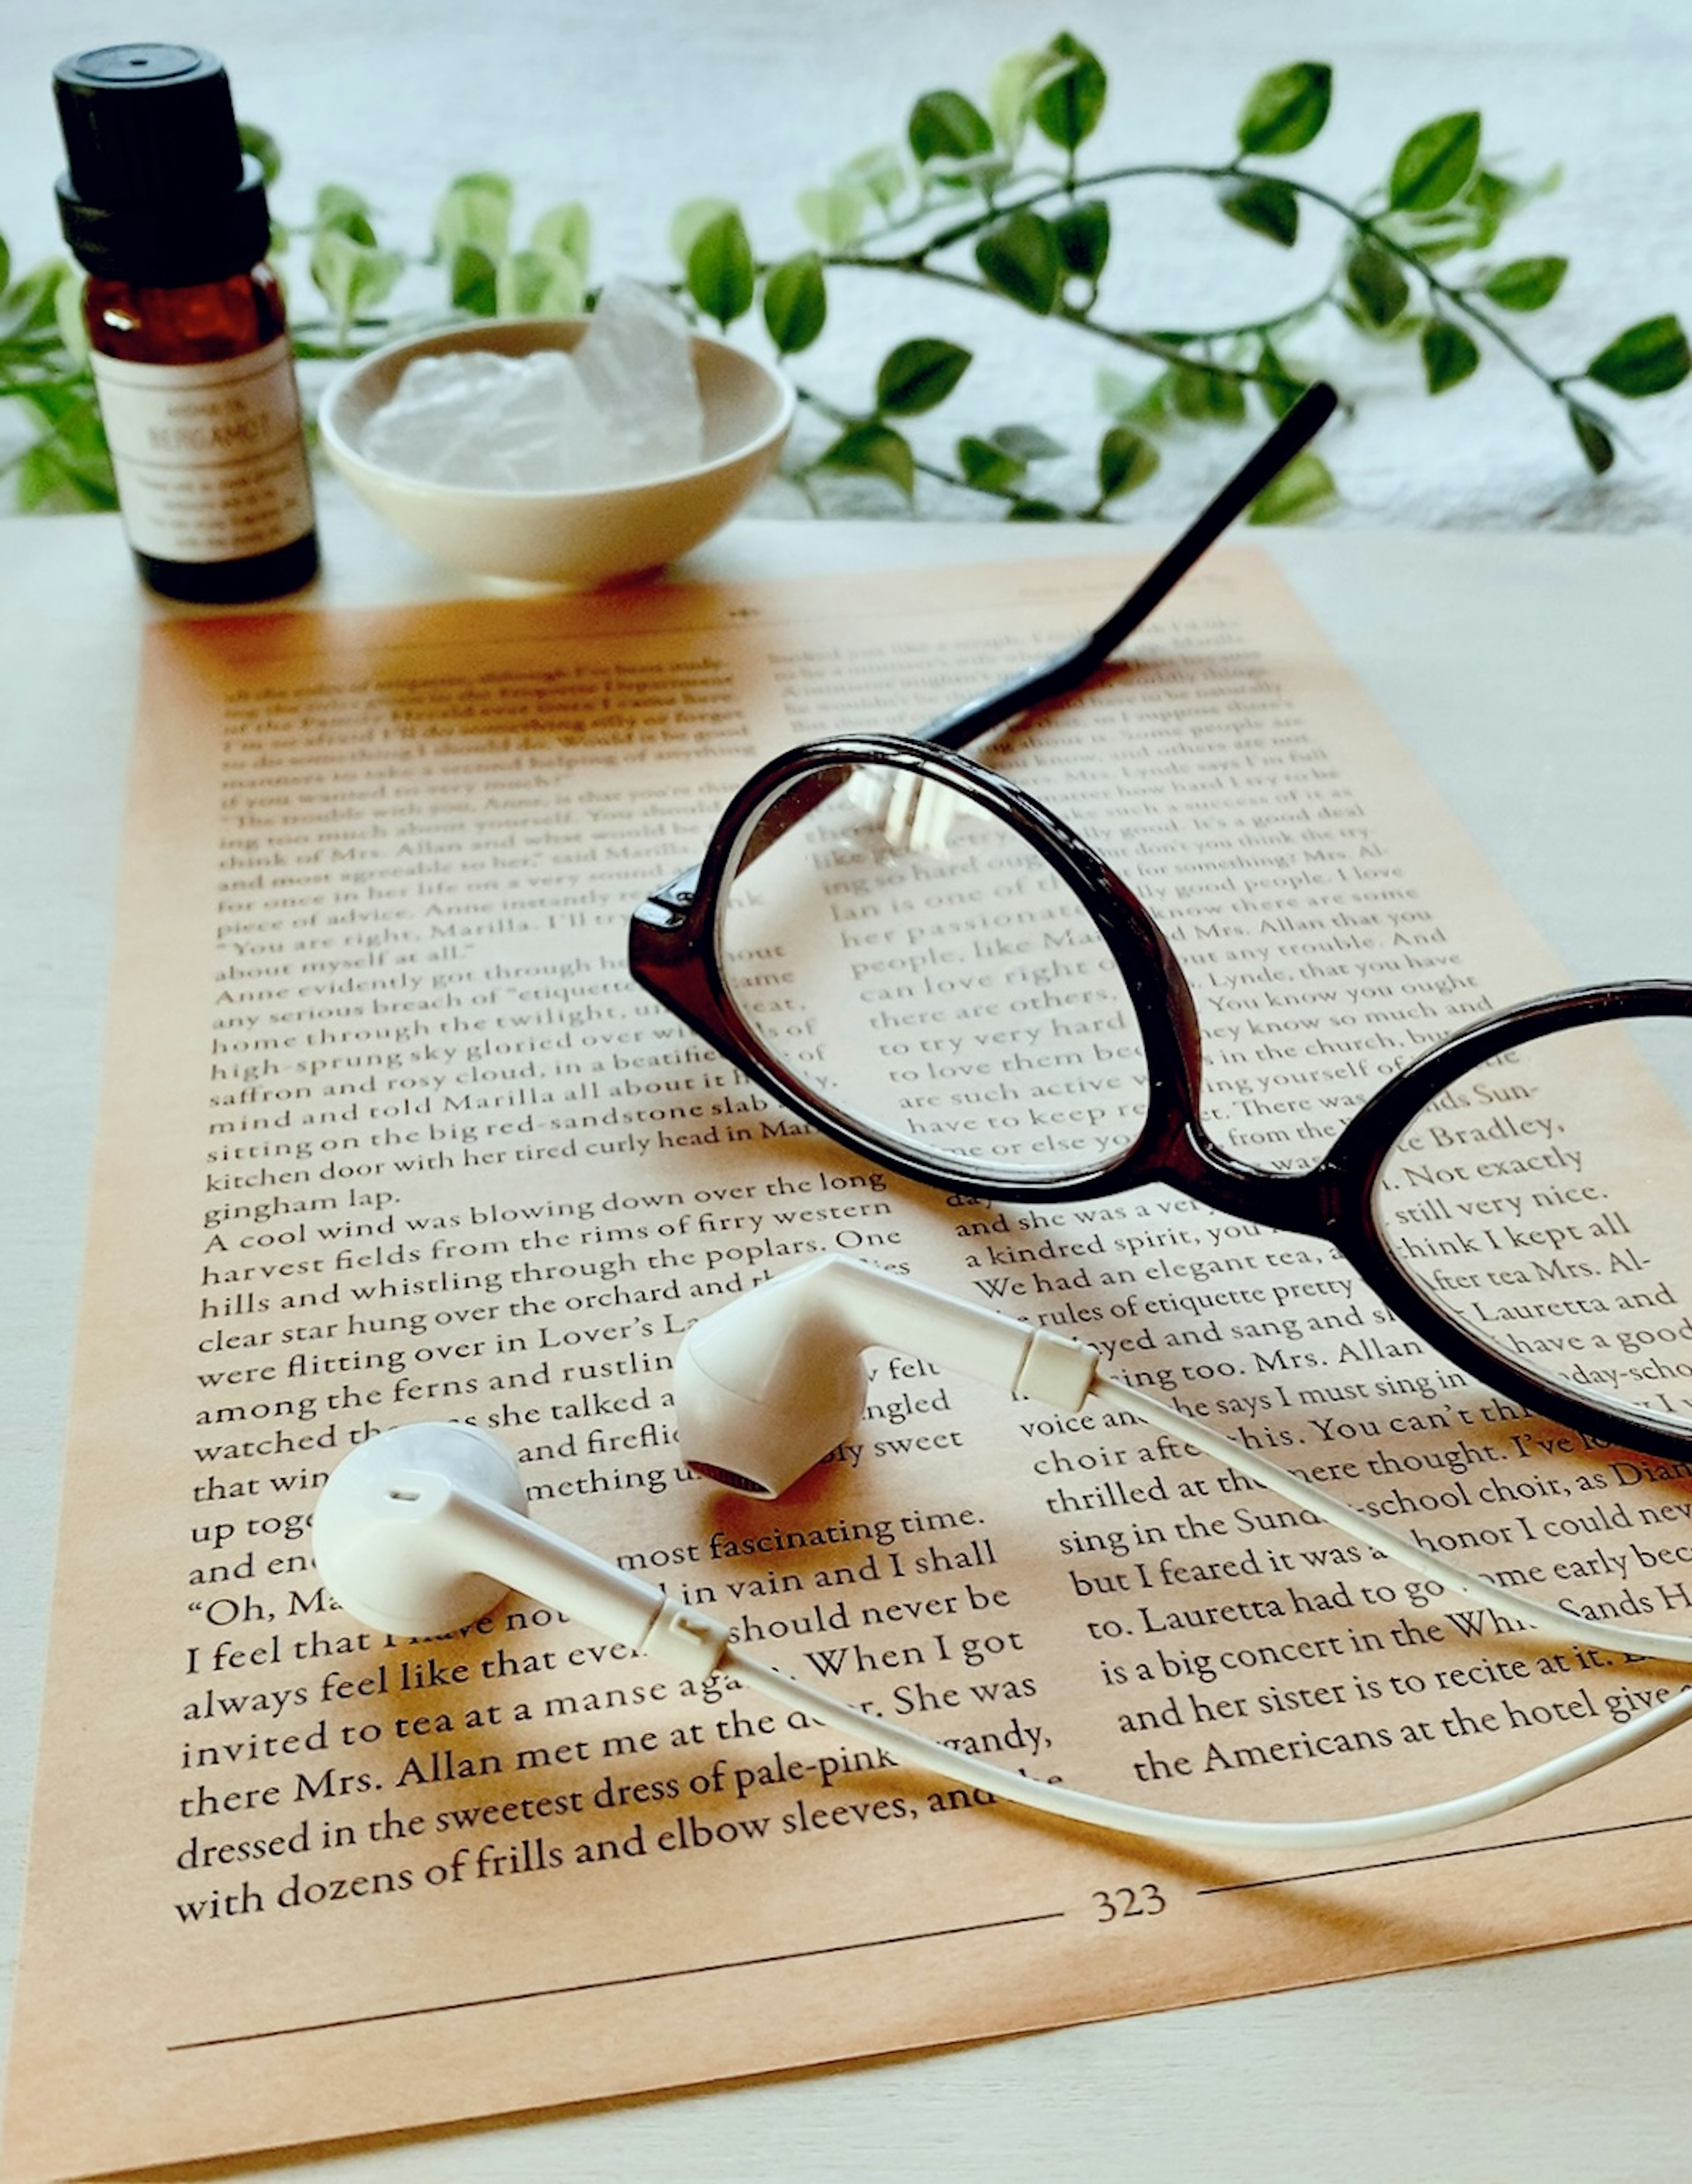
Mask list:
POLYGON ((478 1426, 397 1426, 354 1448, 330 1474, 312 1514, 317 1566, 349 1614, 395 1636, 430 1638, 476 1623, 498 1607, 507 1590, 520 1590, 635 1653, 701 1677, 725 1671, 777 1706, 799 1708, 899 1765, 967 1782, 1059 1819, 1148 1841, 1207 1850, 1343 1850, 1458 1828, 1574 1782, 1692 1714, 1688 1690, 1509 1782, 1399 1813, 1308 1821, 1166 1813, 1011 1773, 812 1690, 742 1653, 723 1623, 533 1524, 522 1514, 524 1503, 517 1465, 493 1435, 478 1426))

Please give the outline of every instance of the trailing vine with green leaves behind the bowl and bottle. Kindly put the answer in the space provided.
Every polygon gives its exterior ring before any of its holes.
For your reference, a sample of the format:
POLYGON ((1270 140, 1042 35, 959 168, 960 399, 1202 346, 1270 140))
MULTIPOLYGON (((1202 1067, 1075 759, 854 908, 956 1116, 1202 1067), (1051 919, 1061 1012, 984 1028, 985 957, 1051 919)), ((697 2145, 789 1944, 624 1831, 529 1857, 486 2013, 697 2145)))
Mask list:
MULTIPOLYGON (((913 443, 908 422, 948 402, 974 360, 956 341, 913 334, 882 360, 867 400, 801 384, 801 400, 832 435, 788 472, 814 507, 819 480, 858 474, 889 480, 908 502, 919 478, 934 478, 1013 520, 1107 520, 1159 467, 1168 426, 1238 424, 1249 404, 1284 415, 1314 376, 1299 343, 1319 321, 1341 321, 1362 341, 1415 345, 1430 395, 1471 378, 1487 356, 1500 358, 1563 411, 1596 474, 1616 461, 1618 439, 1598 397, 1666 393, 1692 371, 1685 332, 1666 312, 1629 325, 1572 369, 1552 369, 1530 352, 1517 321, 1557 297, 1568 260, 1496 262, 1489 253, 1506 223, 1559 177, 1506 175, 1487 157, 1478 111, 1426 122, 1384 179, 1343 199, 1284 164, 1327 122, 1334 74, 1323 61, 1262 76, 1229 157, 1214 162, 1087 168, 1107 90, 1098 55, 1059 33, 1002 61, 982 105, 956 90, 926 92, 904 144, 858 153, 799 192, 812 242, 784 258, 760 258, 740 210, 725 199, 699 197, 675 214, 668 288, 725 332, 760 312, 784 360, 817 343, 854 284, 889 280, 904 282, 913 299, 965 290, 1100 347, 1105 422, 1092 450, 1094 491, 1081 505, 1063 507, 1033 483, 1041 463, 1070 452, 1039 424, 976 424, 945 448, 913 443), (1116 207, 1137 186, 1168 179, 1207 190, 1220 216, 1271 247, 1290 249, 1306 221, 1321 221, 1334 245, 1321 288, 1244 323, 1135 325, 1113 314, 1105 275, 1113 249, 1120 258, 1116 207)), ((275 142, 262 129, 242 135, 275 181, 275 142)), ((301 227, 277 227, 275 249, 290 253, 286 264, 303 256, 323 299, 323 314, 306 317, 295 295, 295 347, 306 360, 356 356, 443 317, 568 314, 594 304, 587 207, 552 205, 528 240, 515 242, 513 190, 498 173, 452 181, 424 253, 378 240, 369 201, 345 183, 323 186, 301 227), (441 301, 389 310, 417 266, 437 269, 441 301)), ((13 472, 22 509, 114 507, 79 297, 81 282, 63 260, 13 282, 0 238, 0 400, 31 424, 26 443, 0 467, 13 472)), ((1327 467, 1306 452, 1262 496, 1253 520, 1297 520, 1334 494, 1327 467)))

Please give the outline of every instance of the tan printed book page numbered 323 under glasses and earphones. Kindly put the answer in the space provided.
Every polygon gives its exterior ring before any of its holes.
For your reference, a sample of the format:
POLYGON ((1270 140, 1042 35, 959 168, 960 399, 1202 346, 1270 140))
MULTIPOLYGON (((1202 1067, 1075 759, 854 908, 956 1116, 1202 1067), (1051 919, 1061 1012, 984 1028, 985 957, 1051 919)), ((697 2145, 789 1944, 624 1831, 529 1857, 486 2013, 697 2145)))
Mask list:
MULTIPOLYGON (((1122 1413, 1059 1420, 917 1361, 882 1363, 860 1433, 779 1505, 677 1463, 679 1332, 845 1249, 1096 1341, 1489 1575, 1685 1627, 1692 1474, 1463 1382, 1325 1247, 1166 1190, 1030 1210, 902 1184, 631 987, 629 911, 696 860, 758 758, 915 725, 1131 577, 1046 563, 155 631, 9 2173, 1685 1915, 1672 1741, 1389 1856, 1225 1863, 989 1808, 522 1601, 413 1645, 319 1590, 306 1524, 327 1468, 456 1415, 511 1441, 544 1522, 779 1666, 1137 1802, 1382 1811, 1672 1688, 1452 1610, 1122 1413)), ((1135 662, 1006 764, 1166 922, 1210 1127, 1240 1153, 1308 1162, 1408 1055, 1559 983, 1251 555, 1190 579, 1135 662)), ((919 987, 941 970, 921 946, 958 930, 985 930, 982 909, 919 939, 889 922, 860 961, 919 987)), ((871 1031, 889 1061, 921 1037, 871 1031)), ((1683 1162, 1640 1099, 1651 1160, 1683 1162)), ((1445 1162, 1465 1190, 1476 1151, 1445 1162)), ((1524 1221, 1533 1190, 1570 1188, 1539 1168, 1493 1184, 1524 1221)), ((1430 1225, 1450 1219, 1437 1182, 1415 1188, 1430 1225)), ((1644 1238, 1637 1177, 1602 1188, 1557 1225, 1644 1238)), ((1629 1321, 1666 1372, 1683 1313, 1675 1291, 1629 1321)))

